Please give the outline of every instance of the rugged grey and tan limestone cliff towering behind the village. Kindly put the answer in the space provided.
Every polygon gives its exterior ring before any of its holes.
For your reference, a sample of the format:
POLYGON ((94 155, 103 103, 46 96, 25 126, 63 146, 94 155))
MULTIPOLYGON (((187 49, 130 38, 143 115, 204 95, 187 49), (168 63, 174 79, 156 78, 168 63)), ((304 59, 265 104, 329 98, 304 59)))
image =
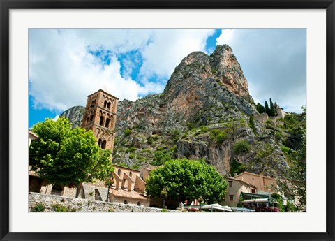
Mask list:
MULTIPOLYGON (((80 118, 71 109, 64 115, 80 118)), ((205 159, 224 175, 238 160, 253 173, 281 175, 288 164, 274 141, 275 132, 255 122, 255 136, 249 127, 250 116, 256 114, 246 78, 228 45, 218 46, 210 56, 193 52, 174 69, 163 93, 119 101, 113 162, 139 167, 166 158, 205 159), (247 154, 234 154, 238 140, 251 146, 247 154), (262 149, 270 154, 260 158, 262 149)))

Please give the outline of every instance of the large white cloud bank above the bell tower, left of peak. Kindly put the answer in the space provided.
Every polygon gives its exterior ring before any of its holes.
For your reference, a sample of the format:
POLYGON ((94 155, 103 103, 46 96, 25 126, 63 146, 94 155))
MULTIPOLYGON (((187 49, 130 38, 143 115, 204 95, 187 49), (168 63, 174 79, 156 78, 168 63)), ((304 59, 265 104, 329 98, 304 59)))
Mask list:
MULTIPOLYGON (((84 105, 88 94, 107 87, 120 98, 162 92, 165 82, 183 57, 204 51, 213 29, 30 29, 29 94, 34 108, 66 110, 84 105), (110 50, 103 65, 89 50, 110 50), (133 64, 124 59, 124 73, 116 54, 142 54, 141 79, 131 79, 133 64), (124 78, 122 77, 124 76, 124 78), (149 82, 153 76, 158 82, 149 82), (140 84, 138 83, 140 82, 140 84)), ((137 59, 138 60, 138 59, 137 59)))

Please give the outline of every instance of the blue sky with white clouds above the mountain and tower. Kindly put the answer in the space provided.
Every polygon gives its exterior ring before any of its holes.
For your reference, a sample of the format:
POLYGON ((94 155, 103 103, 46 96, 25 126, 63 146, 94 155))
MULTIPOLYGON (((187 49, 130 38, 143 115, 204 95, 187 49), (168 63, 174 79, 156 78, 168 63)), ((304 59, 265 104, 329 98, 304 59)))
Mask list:
POLYGON ((120 100, 161 93, 187 54, 222 44, 256 103, 306 105, 306 29, 29 29, 29 127, 104 87, 120 100))

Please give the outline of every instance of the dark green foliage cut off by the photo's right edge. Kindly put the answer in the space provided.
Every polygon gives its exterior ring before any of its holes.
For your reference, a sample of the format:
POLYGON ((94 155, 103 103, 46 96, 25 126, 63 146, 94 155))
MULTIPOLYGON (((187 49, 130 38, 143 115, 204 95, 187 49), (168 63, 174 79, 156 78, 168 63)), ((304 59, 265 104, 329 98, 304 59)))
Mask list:
POLYGON ((306 107, 302 110, 299 123, 301 148, 291 154, 290 168, 277 183, 278 191, 289 200, 297 200, 297 210, 306 212, 306 107))

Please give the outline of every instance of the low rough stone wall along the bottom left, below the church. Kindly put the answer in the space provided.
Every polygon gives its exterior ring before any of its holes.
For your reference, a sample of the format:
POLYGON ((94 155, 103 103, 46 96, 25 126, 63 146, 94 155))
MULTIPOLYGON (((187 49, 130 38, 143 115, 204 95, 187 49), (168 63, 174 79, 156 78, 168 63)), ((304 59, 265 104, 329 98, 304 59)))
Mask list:
MULTIPOLYGON (((29 192, 28 211, 42 203, 44 212, 55 212, 55 206, 65 207, 66 212, 162 212, 160 208, 144 207, 123 203, 110 203, 82 198, 68 198, 65 196, 45 195, 29 192)), ((167 210, 168 212, 180 212, 179 210, 167 210)))

